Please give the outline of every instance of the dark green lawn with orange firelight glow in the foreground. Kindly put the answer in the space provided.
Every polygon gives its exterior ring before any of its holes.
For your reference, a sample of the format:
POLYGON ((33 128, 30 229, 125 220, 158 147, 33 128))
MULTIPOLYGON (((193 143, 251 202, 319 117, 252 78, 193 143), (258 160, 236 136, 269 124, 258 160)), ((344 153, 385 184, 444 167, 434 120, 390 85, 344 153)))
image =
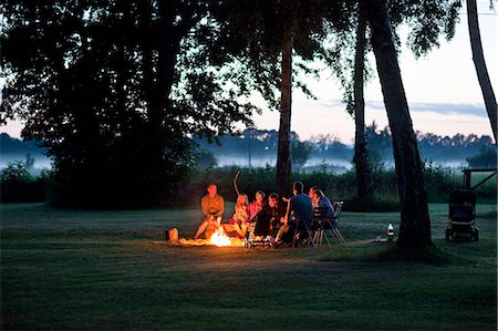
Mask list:
POLYGON ((430 205, 447 261, 423 263, 377 258, 396 213, 344 213, 346 247, 248 250, 159 241, 198 210, 1 205, 1 329, 496 330, 496 205, 477 213, 478 242, 446 242, 430 205))

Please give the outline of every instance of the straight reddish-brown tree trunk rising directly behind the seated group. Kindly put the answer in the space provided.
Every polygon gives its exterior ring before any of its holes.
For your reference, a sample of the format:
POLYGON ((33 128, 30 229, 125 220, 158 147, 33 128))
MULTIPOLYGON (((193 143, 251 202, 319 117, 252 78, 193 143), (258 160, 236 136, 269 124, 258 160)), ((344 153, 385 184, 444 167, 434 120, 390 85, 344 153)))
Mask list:
POLYGON ((289 34, 282 46, 282 84, 280 101, 279 147, 277 155, 277 189, 281 195, 290 194, 291 149, 291 91, 292 90, 292 34, 289 34))

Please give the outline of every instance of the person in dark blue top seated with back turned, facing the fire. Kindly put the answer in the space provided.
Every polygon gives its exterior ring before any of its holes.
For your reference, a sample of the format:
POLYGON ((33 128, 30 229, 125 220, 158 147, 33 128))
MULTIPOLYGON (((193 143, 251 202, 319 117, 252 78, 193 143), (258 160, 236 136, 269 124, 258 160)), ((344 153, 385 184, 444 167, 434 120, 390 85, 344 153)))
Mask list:
POLYGON ((288 205, 288 213, 286 215, 287 225, 282 226, 277 235, 276 241, 280 244, 281 240, 288 241, 289 231, 305 230, 311 228, 311 218, 313 214, 313 205, 311 198, 303 194, 304 185, 301 182, 292 184, 293 197, 290 198, 288 205), (289 216, 291 218, 289 219, 289 216))

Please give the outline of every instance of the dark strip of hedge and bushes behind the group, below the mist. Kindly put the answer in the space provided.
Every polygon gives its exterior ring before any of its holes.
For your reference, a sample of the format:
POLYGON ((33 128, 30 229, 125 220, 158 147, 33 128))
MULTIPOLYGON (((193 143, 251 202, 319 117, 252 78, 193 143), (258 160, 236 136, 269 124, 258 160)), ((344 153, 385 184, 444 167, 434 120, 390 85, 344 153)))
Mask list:
MULTIPOLYGON (((212 162, 209 152, 205 154, 205 161, 212 162)), ((237 167, 212 167, 205 164, 205 167, 189 173, 189 180, 178 186, 174 199, 168 200, 170 206, 195 206, 198 199, 206 193, 206 187, 210 183, 218 184, 219 193, 227 199, 235 201, 237 198, 234 188, 234 176, 237 167)), ((424 166, 428 200, 430 203, 448 201, 448 195, 452 190, 463 186, 463 175, 455 170, 444 168, 432 162, 426 162, 424 166)), ((2 201, 43 201, 51 198, 52 173, 43 170, 41 175, 33 177, 25 172, 23 163, 10 165, 2 170, 2 201), (9 179, 10 178, 10 179, 9 179), (27 187, 30 187, 29 189, 27 187), (35 194, 34 194, 35 192, 35 194), (35 198, 25 198, 24 195, 31 195, 35 198)), ((238 178, 238 187, 241 192, 248 194, 252 199, 257 190, 263 190, 270 194, 274 192, 274 168, 266 167, 241 168, 238 178)), ((478 183, 483 176, 474 174, 473 183, 478 183)), ((349 170, 344 174, 330 173, 326 169, 317 169, 313 172, 298 170, 292 176, 292 180, 303 182, 305 189, 311 186, 318 186, 334 200, 344 200, 345 210, 364 210, 356 197, 355 174, 349 170)), ((128 184, 128 183, 125 183, 128 184)), ((372 190, 373 204, 367 211, 397 211, 400 203, 397 196, 397 184, 395 172, 377 165, 372 169, 372 190)), ((479 203, 496 203, 496 179, 485 183, 477 188, 479 203)))

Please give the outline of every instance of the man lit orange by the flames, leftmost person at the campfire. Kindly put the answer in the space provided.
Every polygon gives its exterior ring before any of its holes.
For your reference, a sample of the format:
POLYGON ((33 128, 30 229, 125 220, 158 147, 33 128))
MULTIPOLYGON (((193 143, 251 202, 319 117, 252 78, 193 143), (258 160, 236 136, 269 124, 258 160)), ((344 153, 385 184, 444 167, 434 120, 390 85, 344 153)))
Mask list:
POLYGON ((194 239, 197 239, 207 228, 209 230, 206 232, 206 238, 209 238, 214 232, 214 228, 220 227, 221 216, 225 210, 225 200, 218 194, 218 187, 216 184, 210 184, 207 187, 208 194, 200 200, 200 207, 203 209, 205 219, 197 229, 197 234, 194 239))

